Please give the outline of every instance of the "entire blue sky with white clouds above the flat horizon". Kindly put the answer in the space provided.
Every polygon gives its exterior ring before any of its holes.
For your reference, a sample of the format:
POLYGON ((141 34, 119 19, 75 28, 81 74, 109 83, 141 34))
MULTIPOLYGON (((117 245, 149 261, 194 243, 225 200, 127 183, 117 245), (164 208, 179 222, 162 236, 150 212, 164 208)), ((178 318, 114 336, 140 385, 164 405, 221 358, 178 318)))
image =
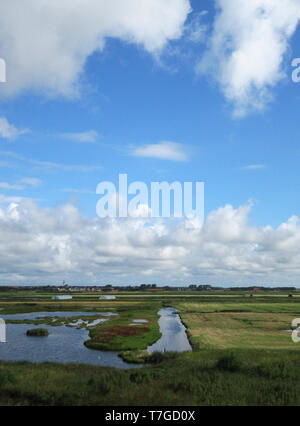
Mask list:
POLYGON ((300 0, 0 0, 0 284, 300 286, 299 22, 300 0), (205 223, 100 219, 123 173, 205 182, 205 223))

